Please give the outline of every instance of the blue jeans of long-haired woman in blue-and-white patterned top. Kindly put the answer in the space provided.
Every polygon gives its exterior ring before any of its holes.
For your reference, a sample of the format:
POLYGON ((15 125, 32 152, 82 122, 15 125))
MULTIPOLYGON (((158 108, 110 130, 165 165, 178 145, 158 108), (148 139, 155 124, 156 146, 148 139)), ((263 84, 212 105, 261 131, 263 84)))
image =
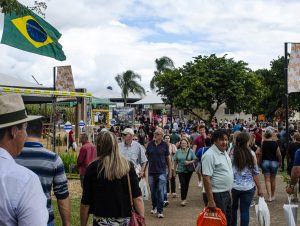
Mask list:
POLYGON ((231 226, 237 225, 237 210, 240 204, 240 217, 241 217, 241 226, 249 225, 249 209, 251 201, 255 193, 255 187, 248 191, 239 191, 232 189, 232 218, 231 226))

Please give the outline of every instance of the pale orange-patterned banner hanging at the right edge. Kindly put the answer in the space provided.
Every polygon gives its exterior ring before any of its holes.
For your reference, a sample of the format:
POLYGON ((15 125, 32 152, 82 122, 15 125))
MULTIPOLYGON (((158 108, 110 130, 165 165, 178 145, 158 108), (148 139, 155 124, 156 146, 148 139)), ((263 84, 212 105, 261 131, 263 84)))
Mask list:
POLYGON ((292 44, 288 66, 288 93, 300 92, 300 44, 292 44))

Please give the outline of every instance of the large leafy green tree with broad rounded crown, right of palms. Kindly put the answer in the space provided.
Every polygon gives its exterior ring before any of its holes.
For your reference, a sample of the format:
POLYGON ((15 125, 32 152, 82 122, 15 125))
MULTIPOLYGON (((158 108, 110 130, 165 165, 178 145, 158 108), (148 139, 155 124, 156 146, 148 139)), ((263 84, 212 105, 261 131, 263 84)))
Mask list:
POLYGON ((208 121, 222 104, 234 112, 251 113, 262 95, 262 83, 243 61, 226 55, 198 56, 182 68, 156 76, 158 93, 172 99, 174 106, 201 118, 196 109, 204 109, 208 121))

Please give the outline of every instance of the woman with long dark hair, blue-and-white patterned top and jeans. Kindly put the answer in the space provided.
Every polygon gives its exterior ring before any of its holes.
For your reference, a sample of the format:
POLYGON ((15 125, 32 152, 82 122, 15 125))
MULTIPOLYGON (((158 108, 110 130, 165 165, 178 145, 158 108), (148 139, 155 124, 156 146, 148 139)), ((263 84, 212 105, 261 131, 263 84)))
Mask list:
POLYGON ((259 183, 259 170, 255 153, 249 147, 250 135, 241 132, 236 137, 232 156, 233 188, 231 226, 237 225, 237 210, 240 205, 240 225, 249 225, 249 209, 257 187, 257 194, 263 196, 259 183))

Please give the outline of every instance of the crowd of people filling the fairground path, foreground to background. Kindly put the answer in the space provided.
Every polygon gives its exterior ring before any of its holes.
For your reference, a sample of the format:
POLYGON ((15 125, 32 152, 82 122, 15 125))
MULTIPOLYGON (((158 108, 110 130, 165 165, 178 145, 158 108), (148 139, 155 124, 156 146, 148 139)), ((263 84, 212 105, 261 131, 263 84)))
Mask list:
MULTIPOLYGON (((64 166, 56 153, 43 147, 40 118, 26 114, 20 95, 0 96, 0 225, 54 225, 52 191, 62 224, 70 225, 64 166)), ((300 133, 295 129, 286 146, 282 128, 261 128, 252 121, 214 120, 210 125, 199 121, 187 126, 175 120, 168 126, 146 127, 141 123, 139 128, 122 128, 118 133, 102 129, 95 142, 81 134, 77 165, 82 226, 87 225, 89 214, 93 225, 128 225, 132 209, 144 217, 139 185, 143 179, 151 193, 149 212, 164 218, 168 199, 177 197, 179 190, 178 205, 188 205, 195 172, 205 206, 211 211, 220 208, 232 226, 237 225, 238 209, 240 224, 249 225, 255 192, 268 202, 276 200, 276 175, 285 169, 285 156, 291 176, 286 192, 292 194, 298 183, 300 133)))

